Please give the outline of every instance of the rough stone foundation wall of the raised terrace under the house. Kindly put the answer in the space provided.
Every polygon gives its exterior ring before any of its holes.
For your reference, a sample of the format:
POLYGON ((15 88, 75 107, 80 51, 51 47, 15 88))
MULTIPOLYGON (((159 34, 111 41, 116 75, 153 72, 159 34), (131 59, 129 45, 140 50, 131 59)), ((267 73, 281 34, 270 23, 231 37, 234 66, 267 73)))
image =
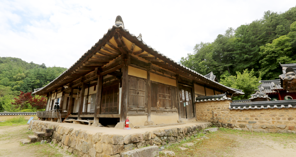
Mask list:
POLYGON ((167 143, 181 142, 184 138, 197 134, 198 131, 212 124, 208 123, 186 127, 176 126, 176 128, 173 129, 147 131, 144 134, 127 135, 106 133, 90 134, 81 129, 74 130, 73 128, 59 125, 58 123, 52 124, 46 121, 35 121, 32 126, 32 131, 41 131, 42 127, 52 128, 52 142, 63 147, 65 151, 67 150, 77 156, 119 157, 123 151, 130 151, 149 145, 159 146, 167 143))

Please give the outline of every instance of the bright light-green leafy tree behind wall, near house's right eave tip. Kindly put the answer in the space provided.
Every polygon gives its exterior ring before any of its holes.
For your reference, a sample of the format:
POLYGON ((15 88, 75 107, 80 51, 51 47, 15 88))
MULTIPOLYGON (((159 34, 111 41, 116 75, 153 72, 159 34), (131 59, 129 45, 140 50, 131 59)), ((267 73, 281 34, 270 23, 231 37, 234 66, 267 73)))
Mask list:
POLYGON ((220 83, 231 88, 241 89, 245 93, 244 95, 233 97, 233 100, 248 99, 250 94, 253 94, 260 85, 261 74, 257 78, 254 76, 254 69, 248 71, 243 70, 243 73, 236 72, 236 76, 229 75, 227 72, 221 76, 220 83))

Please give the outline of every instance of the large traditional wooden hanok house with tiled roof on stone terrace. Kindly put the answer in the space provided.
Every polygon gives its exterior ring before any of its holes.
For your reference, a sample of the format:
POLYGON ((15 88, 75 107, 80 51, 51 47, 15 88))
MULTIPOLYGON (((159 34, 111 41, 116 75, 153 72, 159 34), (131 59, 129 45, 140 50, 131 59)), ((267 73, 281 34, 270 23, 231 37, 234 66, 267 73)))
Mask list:
POLYGON ((94 118, 102 125, 134 126, 195 120, 194 97, 244 94, 173 61, 124 28, 115 25, 68 70, 33 94, 48 97, 38 117, 58 121, 94 118), (194 94, 192 94, 194 93, 194 94), (60 109, 54 105, 60 104, 60 109), (151 122, 152 121, 152 122, 151 122))

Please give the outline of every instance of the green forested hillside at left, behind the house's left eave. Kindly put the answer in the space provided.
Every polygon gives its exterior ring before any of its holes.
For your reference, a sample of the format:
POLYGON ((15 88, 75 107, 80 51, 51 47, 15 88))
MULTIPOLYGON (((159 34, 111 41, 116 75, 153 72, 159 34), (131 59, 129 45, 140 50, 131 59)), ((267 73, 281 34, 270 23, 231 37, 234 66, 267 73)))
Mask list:
MULTIPOLYGON (((43 87, 67 68, 46 67, 19 58, 0 57, 0 112, 20 94, 43 87)), ((7 109, 6 109, 7 110, 7 109)), ((14 110, 11 110, 14 111, 14 110)))

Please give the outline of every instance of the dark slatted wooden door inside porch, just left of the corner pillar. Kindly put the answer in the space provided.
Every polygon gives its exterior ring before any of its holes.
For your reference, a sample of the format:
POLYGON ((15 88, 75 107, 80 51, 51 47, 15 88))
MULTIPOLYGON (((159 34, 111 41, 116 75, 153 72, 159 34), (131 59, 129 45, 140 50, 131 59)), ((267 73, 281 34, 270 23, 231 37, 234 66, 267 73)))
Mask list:
POLYGON ((118 114, 119 84, 103 87, 101 114, 118 114))

